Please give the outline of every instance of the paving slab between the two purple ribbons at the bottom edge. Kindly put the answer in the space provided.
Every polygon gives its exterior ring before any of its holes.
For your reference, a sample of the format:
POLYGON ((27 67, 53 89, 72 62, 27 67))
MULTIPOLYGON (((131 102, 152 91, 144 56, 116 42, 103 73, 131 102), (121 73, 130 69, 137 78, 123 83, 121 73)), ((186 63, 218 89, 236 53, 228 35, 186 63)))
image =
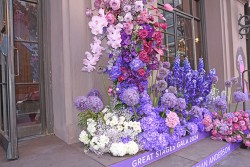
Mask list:
POLYGON ((169 155, 166 158, 160 159, 150 165, 147 165, 147 167, 188 167, 193 166, 197 162, 179 157, 177 155, 169 155))

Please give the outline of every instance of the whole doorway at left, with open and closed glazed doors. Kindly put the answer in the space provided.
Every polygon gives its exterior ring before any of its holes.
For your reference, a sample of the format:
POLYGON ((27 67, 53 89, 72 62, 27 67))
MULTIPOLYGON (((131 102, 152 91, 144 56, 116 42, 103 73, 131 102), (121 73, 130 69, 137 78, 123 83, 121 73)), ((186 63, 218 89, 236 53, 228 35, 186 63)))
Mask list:
POLYGON ((18 139, 45 133, 41 6, 0 0, 0 9, 0 144, 17 159, 18 139))

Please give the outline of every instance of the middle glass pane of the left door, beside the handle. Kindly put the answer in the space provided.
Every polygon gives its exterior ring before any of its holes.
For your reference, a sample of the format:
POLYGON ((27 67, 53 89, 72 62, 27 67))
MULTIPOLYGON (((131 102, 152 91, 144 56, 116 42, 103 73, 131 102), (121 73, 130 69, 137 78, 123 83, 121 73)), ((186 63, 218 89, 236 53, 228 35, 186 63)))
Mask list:
POLYGON ((15 55, 16 73, 19 68, 16 83, 38 83, 40 80, 38 44, 15 42, 15 47, 19 53, 19 55, 15 55), (19 59, 19 62, 17 59, 19 59))

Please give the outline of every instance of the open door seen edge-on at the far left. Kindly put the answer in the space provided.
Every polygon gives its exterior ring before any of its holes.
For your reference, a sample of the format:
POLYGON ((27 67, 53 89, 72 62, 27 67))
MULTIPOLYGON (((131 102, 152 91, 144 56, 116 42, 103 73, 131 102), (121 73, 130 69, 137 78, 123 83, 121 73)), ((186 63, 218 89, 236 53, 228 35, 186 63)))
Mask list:
POLYGON ((17 159, 12 0, 0 0, 0 9, 0 144, 17 159))

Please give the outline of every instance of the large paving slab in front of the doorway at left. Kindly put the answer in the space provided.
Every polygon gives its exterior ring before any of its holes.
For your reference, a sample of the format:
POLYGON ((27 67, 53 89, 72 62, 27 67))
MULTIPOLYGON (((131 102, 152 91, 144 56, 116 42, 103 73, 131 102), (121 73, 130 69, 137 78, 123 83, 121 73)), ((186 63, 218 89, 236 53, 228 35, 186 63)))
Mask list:
MULTIPOLYGON (((3 152, 3 150, 1 151, 3 152)), ((3 154, 3 153, 1 153, 3 154)), ((20 158, 0 159, 0 167, 103 167, 55 136, 46 136, 19 144, 20 158)))

